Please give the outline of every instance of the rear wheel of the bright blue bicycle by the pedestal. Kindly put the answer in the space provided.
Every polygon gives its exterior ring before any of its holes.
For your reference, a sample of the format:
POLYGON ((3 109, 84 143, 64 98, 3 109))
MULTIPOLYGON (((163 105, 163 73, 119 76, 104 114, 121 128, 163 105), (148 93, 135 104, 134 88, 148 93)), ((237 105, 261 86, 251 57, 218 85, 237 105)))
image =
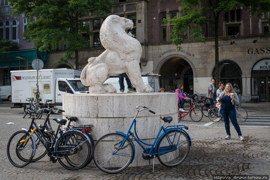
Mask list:
POLYGON ((187 157, 190 150, 190 140, 183 131, 173 130, 164 134, 157 146, 158 161, 167 167, 174 167, 182 163, 187 157), (170 142, 169 142, 170 139, 170 142), (174 151, 166 152, 173 149, 172 144, 175 146, 174 151), (178 146, 177 146, 178 145, 178 146))

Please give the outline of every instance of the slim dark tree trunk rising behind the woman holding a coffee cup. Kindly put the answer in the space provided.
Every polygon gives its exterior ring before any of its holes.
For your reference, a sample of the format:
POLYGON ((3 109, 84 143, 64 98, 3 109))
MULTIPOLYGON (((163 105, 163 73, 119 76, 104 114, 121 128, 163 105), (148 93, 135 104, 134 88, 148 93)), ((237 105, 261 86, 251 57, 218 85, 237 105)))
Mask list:
POLYGON ((216 81, 216 88, 217 89, 218 89, 218 83, 219 83, 218 18, 219 18, 219 14, 217 13, 217 15, 215 17, 215 81, 216 81))

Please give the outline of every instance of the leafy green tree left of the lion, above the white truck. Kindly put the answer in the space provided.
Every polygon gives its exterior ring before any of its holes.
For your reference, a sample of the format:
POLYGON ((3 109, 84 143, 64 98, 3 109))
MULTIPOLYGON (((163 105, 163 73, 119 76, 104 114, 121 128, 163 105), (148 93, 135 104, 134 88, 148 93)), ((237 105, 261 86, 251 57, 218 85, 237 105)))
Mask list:
MULTIPOLYGON (((40 51, 57 49, 58 45, 67 45, 64 58, 67 63, 74 59, 79 68, 78 49, 87 46, 87 41, 79 33, 93 32, 84 26, 81 18, 95 12, 103 16, 110 12, 110 0, 9 0, 14 9, 13 15, 24 13, 28 18, 27 29, 22 34, 28 42, 35 42, 40 51)), ((88 43, 89 45, 89 43, 88 43)))

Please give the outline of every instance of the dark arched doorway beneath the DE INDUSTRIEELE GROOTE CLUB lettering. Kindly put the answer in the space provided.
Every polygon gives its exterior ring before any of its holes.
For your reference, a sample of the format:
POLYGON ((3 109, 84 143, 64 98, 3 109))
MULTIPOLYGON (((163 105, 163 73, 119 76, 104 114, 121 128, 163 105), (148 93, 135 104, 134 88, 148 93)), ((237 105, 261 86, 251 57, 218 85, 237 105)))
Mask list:
POLYGON ((171 58, 167 60, 160 69, 160 87, 168 90, 171 86, 177 89, 178 84, 184 85, 184 91, 193 93, 193 71, 190 64, 182 58, 171 58))

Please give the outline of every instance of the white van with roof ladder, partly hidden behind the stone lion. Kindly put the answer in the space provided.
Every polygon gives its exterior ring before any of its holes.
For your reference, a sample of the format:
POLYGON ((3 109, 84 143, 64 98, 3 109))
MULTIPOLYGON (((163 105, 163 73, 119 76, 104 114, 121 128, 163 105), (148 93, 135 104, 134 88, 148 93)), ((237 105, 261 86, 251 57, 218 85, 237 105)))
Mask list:
MULTIPOLYGON (((150 74, 149 72, 142 72, 141 73, 142 78, 143 78, 143 84, 149 84, 150 87, 153 88, 154 92, 157 93, 159 91, 159 83, 158 83, 158 78, 157 74, 150 74)), ((112 84, 113 87, 116 88, 117 93, 120 92, 120 85, 119 85, 119 78, 118 75, 110 75, 110 78, 107 79, 104 84, 112 84)), ((128 90, 128 85, 127 82, 124 78, 124 85, 125 85, 125 92, 128 90)))

